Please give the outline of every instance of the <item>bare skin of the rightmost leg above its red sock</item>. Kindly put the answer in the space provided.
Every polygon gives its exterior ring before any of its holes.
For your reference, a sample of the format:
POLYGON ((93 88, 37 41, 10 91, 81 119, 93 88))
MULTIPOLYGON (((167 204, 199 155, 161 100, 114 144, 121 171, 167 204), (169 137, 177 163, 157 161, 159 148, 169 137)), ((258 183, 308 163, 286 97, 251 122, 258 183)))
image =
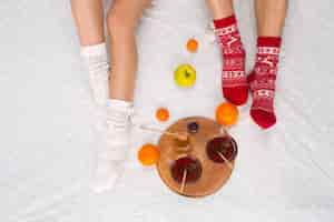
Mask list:
POLYGON ((287 0, 255 0, 259 37, 281 37, 286 17, 287 0))

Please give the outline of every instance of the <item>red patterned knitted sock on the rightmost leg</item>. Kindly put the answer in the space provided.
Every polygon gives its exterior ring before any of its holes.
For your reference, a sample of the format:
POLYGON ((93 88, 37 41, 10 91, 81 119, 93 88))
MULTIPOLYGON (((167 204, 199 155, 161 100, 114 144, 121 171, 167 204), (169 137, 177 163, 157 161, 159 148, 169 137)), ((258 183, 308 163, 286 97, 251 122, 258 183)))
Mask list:
POLYGON ((259 37, 257 56, 248 82, 253 94, 250 117, 263 129, 276 123, 274 111, 275 80, 282 39, 279 37, 259 37))

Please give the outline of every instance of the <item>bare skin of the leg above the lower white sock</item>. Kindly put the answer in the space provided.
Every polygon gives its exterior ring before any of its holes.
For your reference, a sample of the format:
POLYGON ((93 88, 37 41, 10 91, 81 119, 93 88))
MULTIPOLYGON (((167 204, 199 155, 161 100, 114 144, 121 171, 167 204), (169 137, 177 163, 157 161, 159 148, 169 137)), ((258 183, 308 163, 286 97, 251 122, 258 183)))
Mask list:
POLYGON ((148 0, 115 0, 108 12, 110 98, 132 101, 137 72, 136 29, 148 0))

